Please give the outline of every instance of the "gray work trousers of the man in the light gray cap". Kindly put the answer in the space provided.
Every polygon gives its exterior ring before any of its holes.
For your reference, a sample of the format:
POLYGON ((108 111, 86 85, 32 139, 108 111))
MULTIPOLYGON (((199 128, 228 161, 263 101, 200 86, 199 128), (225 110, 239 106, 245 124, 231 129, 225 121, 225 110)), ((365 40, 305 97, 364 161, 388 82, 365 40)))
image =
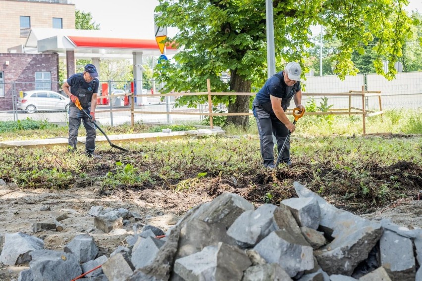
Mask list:
MULTIPOLYGON (((252 112, 257 120, 258 132, 260 134, 261 157, 263 158, 264 166, 273 168, 275 164, 272 135, 274 135, 277 140, 277 151, 280 151, 284 141, 289 135, 289 130, 286 125, 278 120, 274 113, 268 113, 263 107, 264 106, 254 100, 252 112)), ((284 151, 281 154, 280 163, 289 161, 291 161, 290 141, 287 141, 284 151)))

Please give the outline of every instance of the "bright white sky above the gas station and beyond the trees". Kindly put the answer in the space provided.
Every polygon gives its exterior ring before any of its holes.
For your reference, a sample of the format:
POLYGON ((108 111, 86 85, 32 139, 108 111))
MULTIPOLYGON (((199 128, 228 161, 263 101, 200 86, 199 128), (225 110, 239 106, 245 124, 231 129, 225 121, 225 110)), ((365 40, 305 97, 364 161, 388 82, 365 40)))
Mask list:
MULTIPOLYGON (((154 12, 158 0, 69 0, 76 9, 91 12, 100 29, 112 31, 121 37, 155 39, 154 12)), ((422 0, 409 0, 408 11, 422 12, 422 0)), ((319 29, 318 29, 319 32, 319 29)), ((171 37, 176 30, 168 29, 171 37)))

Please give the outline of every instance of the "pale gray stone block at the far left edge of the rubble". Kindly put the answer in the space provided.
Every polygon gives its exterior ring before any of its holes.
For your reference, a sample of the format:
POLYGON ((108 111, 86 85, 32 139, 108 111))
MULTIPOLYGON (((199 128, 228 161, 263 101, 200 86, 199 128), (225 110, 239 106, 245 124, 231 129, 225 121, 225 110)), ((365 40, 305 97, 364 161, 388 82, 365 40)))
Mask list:
POLYGON ((31 251, 44 248, 44 241, 40 238, 30 236, 21 232, 6 233, 4 244, 1 250, 0 262, 5 265, 19 265, 28 263, 31 260, 31 251))

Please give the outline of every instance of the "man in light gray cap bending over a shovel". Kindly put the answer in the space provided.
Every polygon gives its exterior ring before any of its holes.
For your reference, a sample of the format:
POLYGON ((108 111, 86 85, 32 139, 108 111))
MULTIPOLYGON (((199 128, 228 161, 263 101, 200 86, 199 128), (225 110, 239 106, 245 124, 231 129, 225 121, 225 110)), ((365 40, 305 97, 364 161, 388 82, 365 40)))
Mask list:
MULTIPOLYGON (((252 103, 252 111, 257 120, 260 134, 261 156, 264 166, 274 166, 274 142, 277 140, 277 149, 280 151, 287 135, 295 131, 296 126, 287 118, 285 111, 293 98, 296 107, 303 109, 300 75, 302 68, 297 62, 289 62, 283 71, 280 71, 265 82, 264 87, 257 93, 252 103)), ((287 141, 281 155, 280 163, 292 165, 290 159, 290 141, 287 141)))

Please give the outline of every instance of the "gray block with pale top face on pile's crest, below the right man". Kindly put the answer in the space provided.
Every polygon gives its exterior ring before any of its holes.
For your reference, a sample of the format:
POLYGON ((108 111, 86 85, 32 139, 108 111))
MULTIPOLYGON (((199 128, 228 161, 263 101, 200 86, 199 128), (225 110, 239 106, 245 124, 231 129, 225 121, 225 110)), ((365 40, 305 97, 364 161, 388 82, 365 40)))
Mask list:
POLYGON ((289 207, 300 227, 317 229, 321 220, 321 212, 317 199, 308 198, 289 198, 281 201, 282 204, 289 207))

